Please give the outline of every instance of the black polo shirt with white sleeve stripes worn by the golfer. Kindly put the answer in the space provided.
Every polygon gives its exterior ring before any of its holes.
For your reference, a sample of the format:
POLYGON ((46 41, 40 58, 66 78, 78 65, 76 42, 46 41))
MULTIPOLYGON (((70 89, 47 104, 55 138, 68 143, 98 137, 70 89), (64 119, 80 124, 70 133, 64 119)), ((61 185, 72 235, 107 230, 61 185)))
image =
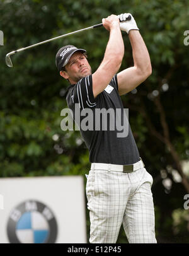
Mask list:
POLYGON ((126 124, 123 119, 125 114, 122 100, 118 95, 117 74, 113 76, 105 90, 96 98, 93 95, 92 75, 82 78, 78 83, 69 86, 66 101, 89 149, 89 161, 91 163, 129 165, 140 160, 129 121, 127 119, 126 124), (76 106, 79 108, 80 120, 77 118, 76 106), (106 115, 99 115, 98 111, 102 109, 105 110, 106 115), (108 110, 112 112, 108 114, 108 110), (85 112, 88 114, 85 115, 85 112), (120 113, 119 117, 118 113, 120 113), (89 121, 84 122, 89 115, 89 121), (95 119, 95 117, 98 117, 98 119, 95 119), (116 124, 117 120, 120 121, 118 125, 116 124), (83 127, 82 124, 86 124, 86 126, 83 127), (128 129, 125 129, 125 131, 127 130, 127 136, 125 136, 125 132, 120 130, 123 125, 128 127, 128 129), (93 129, 91 129, 92 126, 93 129), (86 127, 90 128, 86 129, 86 127))

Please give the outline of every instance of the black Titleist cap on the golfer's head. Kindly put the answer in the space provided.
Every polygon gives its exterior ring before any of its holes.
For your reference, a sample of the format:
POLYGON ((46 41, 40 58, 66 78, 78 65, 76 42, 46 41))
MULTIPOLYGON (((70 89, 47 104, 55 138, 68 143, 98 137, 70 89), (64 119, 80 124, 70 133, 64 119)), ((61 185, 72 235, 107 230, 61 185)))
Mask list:
POLYGON ((55 64, 57 66, 57 69, 60 71, 62 67, 66 66, 67 62, 69 62, 71 55, 77 51, 86 52, 86 50, 78 49, 74 45, 66 45, 60 48, 55 58, 55 64))

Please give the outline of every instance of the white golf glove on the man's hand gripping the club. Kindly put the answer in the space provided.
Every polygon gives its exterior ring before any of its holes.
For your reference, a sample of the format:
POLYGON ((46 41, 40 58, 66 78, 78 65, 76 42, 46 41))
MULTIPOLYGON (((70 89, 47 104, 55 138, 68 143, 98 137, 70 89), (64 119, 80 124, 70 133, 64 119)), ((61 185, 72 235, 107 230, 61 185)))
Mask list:
POLYGON ((118 15, 118 18, 120 19, 120 30, 123 30, 129 34, 130 30, 139 30, 137 27, 137 23, 133 16, 130 13, 122 13, 121 15, 118 15), (131 16, 130 20, 127 20, 128 16, 131 16), (124 22, 125 20, 125 22, 124 22), (127 21, 126 21, 127 20, 127 21))

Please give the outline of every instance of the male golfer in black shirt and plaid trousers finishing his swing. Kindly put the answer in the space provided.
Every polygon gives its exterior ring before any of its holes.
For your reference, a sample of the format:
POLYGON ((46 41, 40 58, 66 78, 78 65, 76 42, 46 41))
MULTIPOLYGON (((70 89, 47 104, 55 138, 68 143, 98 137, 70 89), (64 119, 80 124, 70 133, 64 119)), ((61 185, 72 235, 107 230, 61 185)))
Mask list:
MULTIPOLYGON (((94 73, 86 50, 66 45, 57 52, 57 69, 70 83, 66 100, 74 120, 76 105, 81 111, 94 113, 91 121, 96 123, 99 121, 95 119, 96 109, 123 110, 120 95, 134 90, 151 75, 149 53, 133 16, 126 21, 129 15, 103 18, 110 37, 103 61, 94 73), (121 30, 129 35, 134 66, 118 73, 124 55, 121 30)), ((117 127, 113 131, 100 127, 88 130, 81 127, 91 162, 86 183, 91 222, 89 242, 116 243, 123 224, 129 243, 156 243, 153 179, 140 158, 130 125, 127 136, 118 136, 117 127)))

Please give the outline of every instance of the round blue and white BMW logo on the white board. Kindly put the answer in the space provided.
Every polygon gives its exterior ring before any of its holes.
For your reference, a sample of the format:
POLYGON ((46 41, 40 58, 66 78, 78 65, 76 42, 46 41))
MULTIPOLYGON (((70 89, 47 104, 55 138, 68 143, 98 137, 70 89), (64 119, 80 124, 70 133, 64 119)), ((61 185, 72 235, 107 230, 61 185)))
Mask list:
POLYGON ((7 233, 10 243, 55 243, 57 221, 48 206, 29 200, 11 211, 7 233))

